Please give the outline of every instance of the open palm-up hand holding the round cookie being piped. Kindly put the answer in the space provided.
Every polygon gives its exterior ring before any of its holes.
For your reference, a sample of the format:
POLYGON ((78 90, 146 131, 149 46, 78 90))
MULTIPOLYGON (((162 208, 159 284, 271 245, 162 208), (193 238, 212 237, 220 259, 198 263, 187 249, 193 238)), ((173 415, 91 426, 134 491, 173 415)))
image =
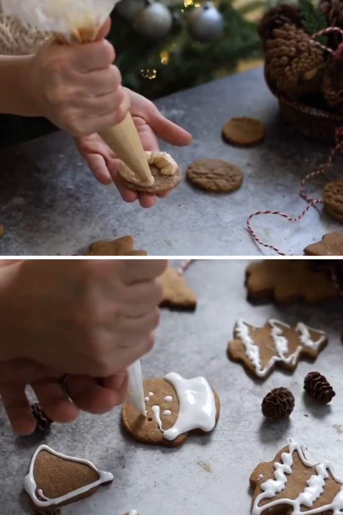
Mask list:
MULTIPOLYGON (((186 146, 191 143, 192 136, 189 132, 165 118, 150 100, 133 91, 126 91, 131 99, 130 112, 145 150, 158 151, 157 138, 171 145, 186 146)), ((134 202, 138 199, 143 208, 150 208, 154 205, 155 195, 137 194, 122 185, 118 174, 120 161, 98 134, 76 138, 75 142, 79 152, 101 184, 111 184, 113 180, 125 202, 134 202)), ((166 194, 159 196, 166 196, 166 194)))

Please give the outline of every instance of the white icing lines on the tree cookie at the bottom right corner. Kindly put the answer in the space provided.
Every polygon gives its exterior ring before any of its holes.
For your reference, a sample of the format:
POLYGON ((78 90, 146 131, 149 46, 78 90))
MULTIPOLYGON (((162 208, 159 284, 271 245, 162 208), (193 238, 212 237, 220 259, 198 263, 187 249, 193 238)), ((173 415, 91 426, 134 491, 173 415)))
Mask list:
POLYGON ((312 510, 300 510, 301 505, 305 506, 306 508, 311 508, 313 503, 315 503, 323 493, 325 479, 329 478, 328 471, 331 473, 336 483, 342 484, 342 481, 336 477, 333 471, 333 467, 329 461, 325 461, 324 463, 320 463, 318 465, 312 464, 305 458, 300 444, 296 442, 292 442, 288 445, 288 452, 281 454, 281 461, 282 463, 276 462, 274 464, 275 479, 267 479, 265 483, 262 483, 262 492, 255 499, 254 505, 252 506, 251 515, 261 515, 264 512, 267 513, 269 508, 279 504, 292 506, 292 515, 314 515, 315 513, 324 513, 328 511, 332 511, 332 515, 341 515, 343 510, 343 487, 340 489, 330 504, 320 506, 319 508, 314 508, 312 510), (316 468, 317 475, 312 475, 306 481, 308 486, 304 488, 303 492, 299 493, 296 499, 285 499, 282 497, 281 499, 276 499, 274 501, 270 501, 270 503, 259 506, 261 501, 265 499, 272 499, 277 493, 280 493, 285 489, 287 483, 286 474, 292 474, 294 451, 297 451, 299 458, 305 467, 316 468))

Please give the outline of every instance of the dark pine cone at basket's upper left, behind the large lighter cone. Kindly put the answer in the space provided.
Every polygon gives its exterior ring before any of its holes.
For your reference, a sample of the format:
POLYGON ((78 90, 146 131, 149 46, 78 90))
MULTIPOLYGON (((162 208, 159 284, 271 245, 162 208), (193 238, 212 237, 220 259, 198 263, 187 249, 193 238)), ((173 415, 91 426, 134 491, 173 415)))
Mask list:
POLYGON ((301 15, 299 7, 295 4, 281 4, 269 9, 258 26, 259 36, 264 43, 273 37, 273 30, 282 25, 295 25, 301 27, 301 15))

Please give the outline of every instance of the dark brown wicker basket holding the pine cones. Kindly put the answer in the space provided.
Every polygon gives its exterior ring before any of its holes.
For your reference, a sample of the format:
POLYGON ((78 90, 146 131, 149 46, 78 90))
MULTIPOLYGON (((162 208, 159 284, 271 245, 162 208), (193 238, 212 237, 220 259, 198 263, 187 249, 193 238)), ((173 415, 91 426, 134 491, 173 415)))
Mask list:
POLYGON ((285 122, 313 140, 322 143, 336 143, 335 129, 343 126, 343 115, 306 106, 306 104, 281 96, 276 93, 273 84, 268 81, 266 73, 264 73, 264 77, 269 90, 279 100, 281 116, 285 122))

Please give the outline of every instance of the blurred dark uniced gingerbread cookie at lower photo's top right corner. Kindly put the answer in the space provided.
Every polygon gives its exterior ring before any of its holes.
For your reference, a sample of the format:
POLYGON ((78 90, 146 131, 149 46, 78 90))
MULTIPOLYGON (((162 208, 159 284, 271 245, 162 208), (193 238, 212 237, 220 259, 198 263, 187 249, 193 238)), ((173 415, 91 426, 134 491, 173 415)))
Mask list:
POLYGON ((304 260, 265 260, 246 268, 248 299, 276 304, 318 304, 335 299, 339 290, 329 274, 312 270, 304 260))

